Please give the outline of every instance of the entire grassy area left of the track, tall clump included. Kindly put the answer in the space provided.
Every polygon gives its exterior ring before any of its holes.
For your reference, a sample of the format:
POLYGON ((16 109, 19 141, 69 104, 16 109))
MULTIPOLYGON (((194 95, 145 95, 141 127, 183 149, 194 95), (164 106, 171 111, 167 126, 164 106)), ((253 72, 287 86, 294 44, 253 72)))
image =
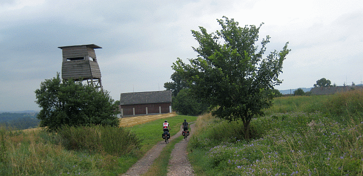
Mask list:
POLYGON ((143 124, 133 126, 128 119, 127 127, 66 126, 57 133, 0 128, 0 175, 118 175, 163 140, 165 118, 174 129, 171 134, 179 131, 184 119, 197 119, 175 115, 150 117, 145 117, 149 121, 146 122, 140 116, 143 124))

